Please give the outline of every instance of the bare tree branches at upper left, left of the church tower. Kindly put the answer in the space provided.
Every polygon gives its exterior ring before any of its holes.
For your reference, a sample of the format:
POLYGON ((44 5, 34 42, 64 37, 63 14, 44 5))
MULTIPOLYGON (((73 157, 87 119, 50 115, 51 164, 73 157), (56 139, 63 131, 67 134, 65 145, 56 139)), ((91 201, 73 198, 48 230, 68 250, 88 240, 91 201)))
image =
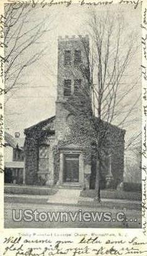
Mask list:
POLYGON ((50 31, 47 21, 51 17, 38 19, 37 5, 5 4, 5 104, 16 90, 26 85, 22 80, 25 70, 37 62, 46 52, 47 46, 41 41, 43 35, 50 31), (38 44, 38 47, 35 47, 38 44))

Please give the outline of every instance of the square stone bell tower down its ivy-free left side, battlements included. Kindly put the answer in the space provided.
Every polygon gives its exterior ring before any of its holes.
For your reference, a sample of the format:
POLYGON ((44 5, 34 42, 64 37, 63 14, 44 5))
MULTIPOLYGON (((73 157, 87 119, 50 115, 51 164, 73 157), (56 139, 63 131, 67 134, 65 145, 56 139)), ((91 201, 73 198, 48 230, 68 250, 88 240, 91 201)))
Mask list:
POLYGON ((69 100, 71 95, 78 97, 83 86, 89 88, 89 37, 58 37, 58 78, 55 121, 56 137, 58 140, 61 140, 65 133, 68 132, 70 113, 65 108, 65 102, 69 100))

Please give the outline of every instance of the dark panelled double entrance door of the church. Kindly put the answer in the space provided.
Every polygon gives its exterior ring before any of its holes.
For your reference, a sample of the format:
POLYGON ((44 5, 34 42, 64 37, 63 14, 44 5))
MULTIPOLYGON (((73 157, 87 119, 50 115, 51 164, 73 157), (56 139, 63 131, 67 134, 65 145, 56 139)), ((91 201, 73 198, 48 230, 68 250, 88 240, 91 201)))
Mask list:
POLYGON ((65 154, 63 182, 79 182, 79 154, 65 154))

